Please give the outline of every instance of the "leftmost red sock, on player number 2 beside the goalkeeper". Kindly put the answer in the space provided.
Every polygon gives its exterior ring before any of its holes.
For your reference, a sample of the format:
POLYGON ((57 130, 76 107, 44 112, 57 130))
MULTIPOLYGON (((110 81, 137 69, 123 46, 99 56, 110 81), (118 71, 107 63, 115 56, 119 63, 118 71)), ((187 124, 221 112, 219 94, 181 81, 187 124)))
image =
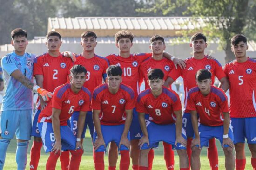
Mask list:
POLYGON ((37 170, 38 162, 41 155, 42 142, 33 141, 33 145, 30 150, 30 170, 37 170))

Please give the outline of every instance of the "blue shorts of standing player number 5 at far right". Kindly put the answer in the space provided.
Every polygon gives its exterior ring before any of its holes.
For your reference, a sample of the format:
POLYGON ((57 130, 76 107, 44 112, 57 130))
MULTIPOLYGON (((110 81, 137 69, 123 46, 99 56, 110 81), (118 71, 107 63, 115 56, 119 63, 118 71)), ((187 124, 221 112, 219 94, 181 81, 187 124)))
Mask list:
POLYGON ((231 118, 231 125, 234 133, 234 144, 245 143, 256 144, 256 117, 252 118, 231 118))

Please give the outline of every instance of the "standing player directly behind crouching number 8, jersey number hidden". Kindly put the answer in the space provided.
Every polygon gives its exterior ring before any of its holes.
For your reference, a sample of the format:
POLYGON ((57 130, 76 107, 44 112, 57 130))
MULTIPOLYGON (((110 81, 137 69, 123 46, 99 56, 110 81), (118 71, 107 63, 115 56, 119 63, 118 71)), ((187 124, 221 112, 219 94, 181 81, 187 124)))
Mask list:
MULTIPOLYGON (((156 69, 156 68, 161 69, 164 73, 164 77, 163 77, 164 80, 167 79, 170 71, 172 69, 175 69, 173 62, 163 57, 163 51, 165 50, 164 38, 160 35, 154 35, 152 38, 150 38, 149 42, 150 42, 149 48, 152 51, 152 57, 149 57, 144 62, 142 62, 139 70, 142 79, 145 80, 145 89, 149 88, 149 85, 146 82, 148 80, 147 74, 151 69, 156 69)), ((146 116, 148 116, 148 114, 146 114, 146 116)), ((164 146, 164 159, 166 163, 166 168, 168 170, 173 170, 174 169, 174 151, 172 150, 172 146, 165 142, 163 142, 163 146, 164 146)), ((150 161, 153 161, 153 159, 151 159, 150 161)), ((149 164, 152 165, 152 163, 149 163, 149 164)), ((149 167, 149 169, 151 169, 151 167, 149 167)))

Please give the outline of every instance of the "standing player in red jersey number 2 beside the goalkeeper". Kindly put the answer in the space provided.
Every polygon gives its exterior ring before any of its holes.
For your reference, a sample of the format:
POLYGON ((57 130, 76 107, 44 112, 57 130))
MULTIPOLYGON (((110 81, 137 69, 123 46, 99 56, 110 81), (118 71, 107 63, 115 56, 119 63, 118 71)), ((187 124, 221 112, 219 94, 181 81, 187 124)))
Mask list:
MULTIPOLYGON (((41 88, 45 88, 49 92, 67 82, 69 70, 73 66, 70 58, 64 57, 60 54, 61 35, 56 31, 50 31, 46 35, 47 42, 45 43, 48 52, 36 57, 34 62, 34 76, 36 84, 41 88)), ((37 127, 38 115, 43 110, 47 102, 39 97, 38 108, 33 120, 32 134, 34 136, 33 145, 30 151, 30 170, 37 170, 40 159, 40 152, 42 147, 42 139, 37 127)), ((61 154, 61 169, 68 169, 69 152, 61 154)))

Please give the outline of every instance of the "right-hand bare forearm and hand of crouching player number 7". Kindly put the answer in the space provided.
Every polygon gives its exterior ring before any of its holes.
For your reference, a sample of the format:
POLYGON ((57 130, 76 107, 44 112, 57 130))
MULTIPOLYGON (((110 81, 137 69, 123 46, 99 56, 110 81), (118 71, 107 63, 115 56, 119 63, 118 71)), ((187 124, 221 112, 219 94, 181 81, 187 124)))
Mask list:
POLYGON ((120 143, 118 146, 119 148, 121 145, 125 145, 127 148, 130 148, 130 146, 131 146, 130 141, 127 138, 127 134, 128 134, 128 131, 129 131, 131 123, 132 123, 133 110, 132 109, 125 110, 125 113, 126 113, 126 118, 125 118, 123 133, 122 133, 121 140, 120 140, 120 143))

